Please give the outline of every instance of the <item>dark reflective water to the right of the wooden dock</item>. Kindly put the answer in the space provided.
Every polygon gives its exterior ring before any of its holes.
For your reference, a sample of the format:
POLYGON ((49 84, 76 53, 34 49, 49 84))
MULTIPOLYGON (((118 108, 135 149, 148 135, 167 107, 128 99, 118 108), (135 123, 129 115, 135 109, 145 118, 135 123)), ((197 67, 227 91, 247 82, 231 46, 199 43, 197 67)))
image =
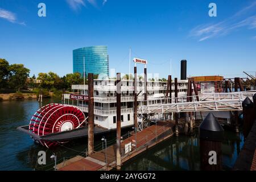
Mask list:
MULTIPOLYGON (((122 166, 122 170, 200 170, 198 134, 192 137, 180 135, 138 155, 122 166)), ((230 170, 243 145, 243 135, 225 131, 222 143, 222 165, 230 170)))

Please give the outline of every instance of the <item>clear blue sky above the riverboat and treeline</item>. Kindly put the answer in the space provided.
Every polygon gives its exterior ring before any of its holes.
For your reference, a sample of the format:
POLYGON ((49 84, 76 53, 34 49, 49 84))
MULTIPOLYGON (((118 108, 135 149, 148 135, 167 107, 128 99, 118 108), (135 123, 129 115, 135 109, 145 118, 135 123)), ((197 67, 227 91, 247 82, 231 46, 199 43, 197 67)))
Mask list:
POLYGON ((148 72, 160 77, 179 78, 182 59, 188 76, 246 77, 256 71, 255 30, 255 0, 0 1, 0 57, 31 76, 71 73, 73 49, 106 45, 109 67, 121 73, 129 72, 131 47, 131 57, 147 59, 148 72), (40 2, 46 17, 38 16, 40 2), (208 15, 211 2, 217 17, 208 15))

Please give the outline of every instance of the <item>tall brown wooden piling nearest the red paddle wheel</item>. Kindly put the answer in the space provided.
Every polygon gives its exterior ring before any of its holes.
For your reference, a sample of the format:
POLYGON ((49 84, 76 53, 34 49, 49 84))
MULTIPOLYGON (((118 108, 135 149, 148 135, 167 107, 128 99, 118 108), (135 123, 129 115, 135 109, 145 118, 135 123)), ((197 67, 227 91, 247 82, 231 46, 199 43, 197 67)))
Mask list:
POLYGON ((88 73, 88 154, 94 150, 94 99, 93 73, 88 73))

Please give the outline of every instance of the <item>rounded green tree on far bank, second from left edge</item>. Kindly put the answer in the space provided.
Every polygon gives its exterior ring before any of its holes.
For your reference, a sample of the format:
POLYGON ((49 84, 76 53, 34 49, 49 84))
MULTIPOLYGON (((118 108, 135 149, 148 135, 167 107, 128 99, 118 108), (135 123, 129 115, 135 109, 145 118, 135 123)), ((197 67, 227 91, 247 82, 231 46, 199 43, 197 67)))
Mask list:
POLYGON ((30 70, 25 68, 23 64, 12 64, 9 67, 9 71, 9 84, 11 88, 15 88, 19 92, 26 84, 30 70))

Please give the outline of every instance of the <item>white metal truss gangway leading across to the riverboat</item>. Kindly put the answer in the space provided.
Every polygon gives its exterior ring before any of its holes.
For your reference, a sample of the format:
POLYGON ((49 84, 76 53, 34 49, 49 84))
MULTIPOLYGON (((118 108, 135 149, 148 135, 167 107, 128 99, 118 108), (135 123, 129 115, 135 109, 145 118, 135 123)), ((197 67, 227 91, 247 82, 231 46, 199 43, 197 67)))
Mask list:
MULTIPOLYGON (((196 111, 234 111, 242 110, 242 102, 246 97, 253 99, 256 90, 230 93, 204 93, 198 96, 189 96, 191 102, 187 102, 187 96, 177 98, 156 98, 142 102, 138 106, 138 115, 151 113, 184 113, 196 111), (199 98, 199 101, 197 101, 199 98)), ((188 99, 190 100, 190 99, 188 99)))

